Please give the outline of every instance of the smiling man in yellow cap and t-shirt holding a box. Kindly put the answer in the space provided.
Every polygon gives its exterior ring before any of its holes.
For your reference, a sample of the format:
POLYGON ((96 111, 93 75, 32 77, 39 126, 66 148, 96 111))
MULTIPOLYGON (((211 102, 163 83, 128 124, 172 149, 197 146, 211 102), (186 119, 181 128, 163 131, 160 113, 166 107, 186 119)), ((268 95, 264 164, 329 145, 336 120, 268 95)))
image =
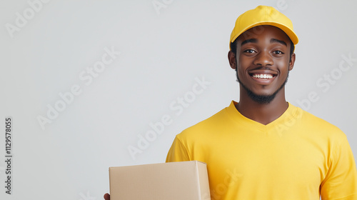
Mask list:
POLYGON ((239 102, 178 134, 166 158, 205 162, 211 199, 357 199, 346 135, 286 102, 297 43, 290 19, 272 7, 238 17, 228 61, 239 102))

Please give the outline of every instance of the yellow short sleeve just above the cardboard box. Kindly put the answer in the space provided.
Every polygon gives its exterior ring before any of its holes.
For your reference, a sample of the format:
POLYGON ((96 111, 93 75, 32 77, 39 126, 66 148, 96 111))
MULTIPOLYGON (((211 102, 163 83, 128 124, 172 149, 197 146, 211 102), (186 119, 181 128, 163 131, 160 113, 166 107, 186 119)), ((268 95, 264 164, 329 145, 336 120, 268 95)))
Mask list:
POLYGON ((171 145, 169 153, 166 157, 166 162, 175 162, 175 161, 190 161, 188 156, 188 151, 186 147, 183 146, 178 136, 175 137, 174 142, 171 145))

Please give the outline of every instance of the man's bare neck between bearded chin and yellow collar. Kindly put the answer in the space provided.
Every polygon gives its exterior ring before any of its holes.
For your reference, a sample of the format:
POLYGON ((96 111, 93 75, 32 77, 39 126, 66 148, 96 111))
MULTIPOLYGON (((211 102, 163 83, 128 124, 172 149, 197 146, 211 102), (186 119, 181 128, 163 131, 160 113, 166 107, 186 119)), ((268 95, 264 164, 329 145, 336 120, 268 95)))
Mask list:
POLYGON ((269 124, 278 119, 288 109, 288 102, 285 99, 285 89, 282 88, 270 103, 260 104, 253 101, 248 96, 246 90, 241 88, 239 103, 236 104, 236 109, 248 119, 264 125, 269 124))

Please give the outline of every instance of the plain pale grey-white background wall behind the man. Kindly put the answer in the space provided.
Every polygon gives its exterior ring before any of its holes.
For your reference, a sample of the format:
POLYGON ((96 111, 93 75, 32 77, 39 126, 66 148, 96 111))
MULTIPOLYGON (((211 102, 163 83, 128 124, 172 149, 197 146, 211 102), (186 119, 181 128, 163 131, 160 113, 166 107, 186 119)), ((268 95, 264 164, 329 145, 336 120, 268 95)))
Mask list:
POLYGON ((342 129, 357 158, 357 61, 338 69, 342 55, 357 59, 357 1, 38 2, 32 13, 28 1, 0 2, 0 199, 103 199, 109 166, 164 162, 176 134, 238 101, 229 36, 239 14, 259 4, 286 14, 300 39, 286 99, 342 129), (16 13, 28 18, 22 27, 16 13), (105 48, 121 54, 90 84, 81 80, 105 48), (328 74, 335 79, 324 80, 328 74), (210 82, 201 94, 192 93, 196 79, 210 82), (48 106, 75 85, 81 94, 41 129, 38 117, 48 118, 48 106), (311 92, 314 102, 298 104, 311 92), (170 108, 185 96, 191 102, 181 112, 170 108), (172 123, 139 149, 149 124, 166 115, 172 123), (11 195, 4 188, 8 116, 11 195), (133 157, 129 146, 142 152, 133 157))

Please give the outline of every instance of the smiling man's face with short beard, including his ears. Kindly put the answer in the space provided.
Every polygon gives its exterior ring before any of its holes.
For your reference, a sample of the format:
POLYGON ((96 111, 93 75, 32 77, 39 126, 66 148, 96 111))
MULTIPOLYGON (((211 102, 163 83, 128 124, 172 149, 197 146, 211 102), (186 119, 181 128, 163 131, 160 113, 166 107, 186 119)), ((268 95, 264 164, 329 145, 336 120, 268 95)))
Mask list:
POLYGON ((238 37, 236 56, 229 56, 229 61, 254 101, 269 103, 283 89, 295 61, 295 54, 290 60, 290 45, 275 26, 257 26, 238 37))

